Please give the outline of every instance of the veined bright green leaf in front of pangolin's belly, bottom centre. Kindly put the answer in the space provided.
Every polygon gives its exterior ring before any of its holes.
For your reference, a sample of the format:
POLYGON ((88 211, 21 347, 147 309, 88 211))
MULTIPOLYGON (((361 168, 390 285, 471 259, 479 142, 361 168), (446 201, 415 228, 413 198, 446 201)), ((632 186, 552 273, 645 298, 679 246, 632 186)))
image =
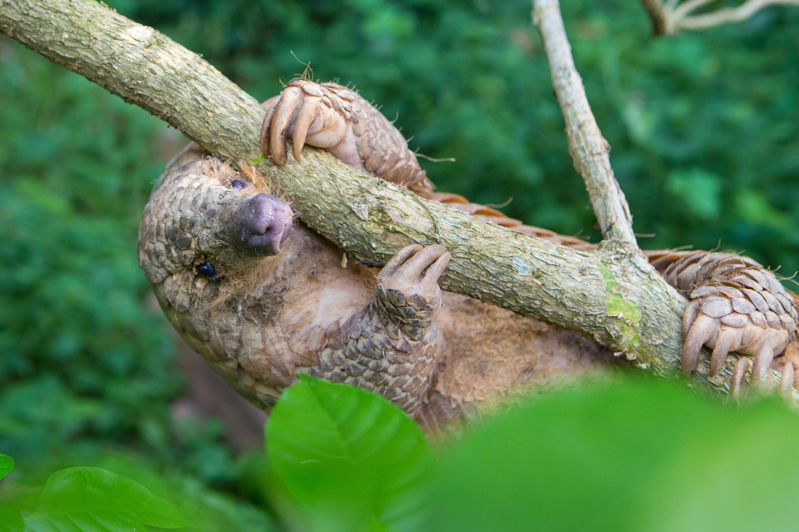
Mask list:
POLYGON ((388 400, 303 375, 266 432, 274 471, 327 530, 418 530, 431 449, 388 400))

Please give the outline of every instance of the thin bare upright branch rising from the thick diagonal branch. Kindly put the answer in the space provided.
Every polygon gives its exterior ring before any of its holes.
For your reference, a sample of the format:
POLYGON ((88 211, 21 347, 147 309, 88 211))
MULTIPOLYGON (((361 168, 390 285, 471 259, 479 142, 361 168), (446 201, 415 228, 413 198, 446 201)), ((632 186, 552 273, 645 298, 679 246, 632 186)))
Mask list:
POLYGON ((571 162, 586 183, 602 236, 638 248, 630 207, 610 167, 610 144, 599 131, 586 89, 574 68, 558 0, 534 0, 533 22, 547 51, 552 86, 566 122, 571 162))

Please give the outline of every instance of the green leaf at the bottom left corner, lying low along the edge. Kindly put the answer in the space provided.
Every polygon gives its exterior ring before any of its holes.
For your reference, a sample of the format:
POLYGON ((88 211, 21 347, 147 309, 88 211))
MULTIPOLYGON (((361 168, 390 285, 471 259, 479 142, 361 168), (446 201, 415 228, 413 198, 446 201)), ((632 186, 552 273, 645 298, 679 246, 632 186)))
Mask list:
POLYGON ((99 467, 54 473, 36 510, 26 518, 26 530, 32 532, 145 532, 145 525, 190 524, 175 506, 140 483, 99 467))

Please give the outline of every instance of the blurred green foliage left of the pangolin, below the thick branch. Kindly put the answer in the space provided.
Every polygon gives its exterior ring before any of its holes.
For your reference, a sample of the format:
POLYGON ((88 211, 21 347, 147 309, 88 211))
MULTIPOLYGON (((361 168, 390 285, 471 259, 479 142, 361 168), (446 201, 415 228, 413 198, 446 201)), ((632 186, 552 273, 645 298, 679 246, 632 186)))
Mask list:
POLYGON ((181 374, 136 263, 164 126, 0 45, 0 448, 22 458, 112 441, 224 459, 203 434, 218 428, 173 420, 181 374))

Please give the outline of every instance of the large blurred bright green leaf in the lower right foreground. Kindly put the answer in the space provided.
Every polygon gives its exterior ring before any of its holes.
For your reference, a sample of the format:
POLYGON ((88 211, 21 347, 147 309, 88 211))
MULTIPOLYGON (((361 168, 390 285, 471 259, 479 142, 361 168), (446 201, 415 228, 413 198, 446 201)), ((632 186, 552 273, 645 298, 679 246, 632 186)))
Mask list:
POLYGON ((443 459, 435 532, 797 530, 799 419, 660 382, 566 392, 489 421, 443 459))

